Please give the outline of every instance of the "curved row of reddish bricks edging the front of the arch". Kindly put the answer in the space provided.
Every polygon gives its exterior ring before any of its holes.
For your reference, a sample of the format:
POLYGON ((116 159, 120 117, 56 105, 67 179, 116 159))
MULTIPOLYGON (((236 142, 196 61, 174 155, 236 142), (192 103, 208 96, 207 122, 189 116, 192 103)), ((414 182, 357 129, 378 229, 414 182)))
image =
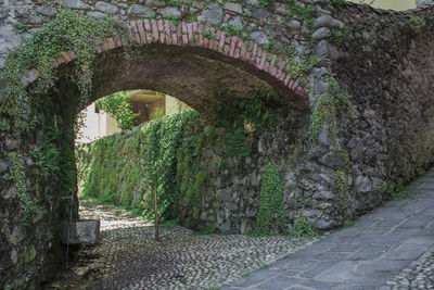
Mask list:
MULTIPOLYGON (((263 50, 252 40, 243 40, 237 36, 229 36, 225 30, 215 29, 197 22, 136 20, 125 22, 124 25, 131 40, 139 46, 163 43, 179 47, 201 47, 213 50, 228 58, 246 62, 268 73, 298 97, 307 96, 307 81, 301 81, 302 78, 293 77, 291 68, 283 58, 263 50), (205 34, 208 35, 205 36, 205 34)), ((115 34, 112 37, 105 38, 103 43, 97 48, 97 52, 102 53, 117 49, 125 43, 127 43, 125 37, 115 34)), ((61 52, 61 55, 53 65, 56 67, 75 59, 74 51, 61 52)), ((38 77, 39 73, 36 70, 31 70, 27 76, 22 78, 22 83, 24 86, 28 86, 38 77)))

